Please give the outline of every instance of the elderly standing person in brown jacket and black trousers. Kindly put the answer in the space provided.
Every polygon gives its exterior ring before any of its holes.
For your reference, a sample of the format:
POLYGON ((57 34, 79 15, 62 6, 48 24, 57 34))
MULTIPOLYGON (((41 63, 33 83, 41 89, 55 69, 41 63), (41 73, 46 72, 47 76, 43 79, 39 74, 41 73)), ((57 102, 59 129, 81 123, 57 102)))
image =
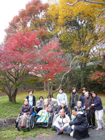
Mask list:
POLYGON ((92 97, 89 95, 89 92, 85 92, 85 110, 87 113, 87 120, 89 124, 89 128, 95 128, 95 110, 94 107, 91 107, 93 103, 92 97), (92 120, 92 124, 91 124, 92 120))

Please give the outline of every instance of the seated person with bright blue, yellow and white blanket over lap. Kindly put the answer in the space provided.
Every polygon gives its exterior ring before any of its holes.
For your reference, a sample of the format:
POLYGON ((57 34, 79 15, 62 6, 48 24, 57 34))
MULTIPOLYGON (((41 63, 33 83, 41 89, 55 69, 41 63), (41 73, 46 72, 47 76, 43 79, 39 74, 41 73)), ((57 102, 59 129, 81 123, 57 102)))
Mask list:
POLYGON ((50 114, 49 112, 52 111, 51 105, 48 103, 47 100, 44 101, 43 109, 38 112, 39 118, 37 119, 37 123, 48 123, 50 114))

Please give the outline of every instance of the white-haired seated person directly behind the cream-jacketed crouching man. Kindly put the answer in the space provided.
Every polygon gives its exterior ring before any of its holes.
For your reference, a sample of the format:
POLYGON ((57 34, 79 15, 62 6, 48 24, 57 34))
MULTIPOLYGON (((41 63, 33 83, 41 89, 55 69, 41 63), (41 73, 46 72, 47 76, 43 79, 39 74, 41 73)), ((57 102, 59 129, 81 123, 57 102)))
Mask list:
POLYGON ((57 107, 55 108, 53 123, 54 123, 54 121, 56 120, 56 118, 59 116, 59 111, 60 111, 61 109, 64 109, 65 114, 71 117, 69 108, 66 106, 66 102, 65 102, 65 101, 62 101, 62 102, 61 102, 61 105, 59 105, 59 106, 57 106, 57 107))

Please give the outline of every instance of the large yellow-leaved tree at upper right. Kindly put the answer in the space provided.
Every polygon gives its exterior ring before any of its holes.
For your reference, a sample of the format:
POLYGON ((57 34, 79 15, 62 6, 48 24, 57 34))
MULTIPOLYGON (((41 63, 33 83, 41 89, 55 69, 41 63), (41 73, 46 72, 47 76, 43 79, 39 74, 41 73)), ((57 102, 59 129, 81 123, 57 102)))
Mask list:
POLYGON ((104 42, 104 5, 59 0, 59 3, 50 5, 48 15, 54 27, 52 34, 59 37, 62 48, 73 56, 78 55, 83 77, 84 67, 93 60, 91 50, 99 41, 104 42))

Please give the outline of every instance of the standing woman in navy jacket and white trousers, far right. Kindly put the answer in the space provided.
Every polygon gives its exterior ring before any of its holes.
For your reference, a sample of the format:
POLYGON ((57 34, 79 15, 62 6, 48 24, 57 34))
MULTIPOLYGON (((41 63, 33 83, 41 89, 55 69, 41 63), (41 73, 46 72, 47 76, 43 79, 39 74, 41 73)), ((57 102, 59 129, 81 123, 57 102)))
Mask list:
POLYGON ((92 91, 91 94, 93 97, 93 104, 91 104, 91 106, 95 108, 95 116, 96 116, 97 125, 98 125, 96 130, 105 129, 105 124, 103 121, 104 111, 103 111, 101 98, 97 96, 97 94, 94 91, 92 91))

